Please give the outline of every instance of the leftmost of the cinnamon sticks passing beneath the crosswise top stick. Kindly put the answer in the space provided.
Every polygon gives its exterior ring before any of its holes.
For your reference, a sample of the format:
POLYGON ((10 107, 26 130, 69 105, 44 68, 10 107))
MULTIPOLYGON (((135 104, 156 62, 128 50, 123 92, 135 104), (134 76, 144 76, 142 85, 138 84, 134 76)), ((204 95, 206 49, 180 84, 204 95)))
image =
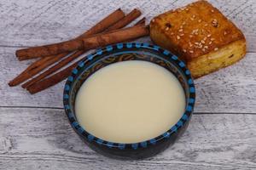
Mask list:
MULTIPOLYGON (((119 8, 115 10, 112 14, 109 14, 106 18, 101 20, 90 28, 90 30, 85 31, 81 36, 77 37, 89 37, 92 34, 99 33, 109 26, 112 26, 114 23, 118 22, 119 20, 125 17, 125 13, 119 8)), ((38 74, 38 72, 43 71, 49 65, 52 65, 56 61, 60 60, 61 58, 65 57, 68 53, 58 54, 58 55, 50 55, 45 57, 45 59, 39 59, 32 65, 28 66, 25 71, 22 71, 18 77, 15 77, 12 81, 9 82, 9 86, 16 86, 21 82, 26 81, 28 78, 33 77, 34 75, 38 74)))

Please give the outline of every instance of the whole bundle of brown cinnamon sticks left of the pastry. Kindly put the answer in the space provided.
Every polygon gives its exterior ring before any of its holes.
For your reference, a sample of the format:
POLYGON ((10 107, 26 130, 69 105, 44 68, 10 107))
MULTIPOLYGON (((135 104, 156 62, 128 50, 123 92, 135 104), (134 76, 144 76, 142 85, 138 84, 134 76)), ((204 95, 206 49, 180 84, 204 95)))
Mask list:
POLYGON ((145 18, 139 20, 135 26, 124 28, 141 14, 135 8, 125 15, 119 8, 72 40, 17 50, 16 56, 19 60, 38 60, 10 81, 9 86, 25 82, 21 87, 26 88, 31 94, 36 94, 65 80, 82 59, 72 65, 70 63, 88 50, 148 36, 145 18))

